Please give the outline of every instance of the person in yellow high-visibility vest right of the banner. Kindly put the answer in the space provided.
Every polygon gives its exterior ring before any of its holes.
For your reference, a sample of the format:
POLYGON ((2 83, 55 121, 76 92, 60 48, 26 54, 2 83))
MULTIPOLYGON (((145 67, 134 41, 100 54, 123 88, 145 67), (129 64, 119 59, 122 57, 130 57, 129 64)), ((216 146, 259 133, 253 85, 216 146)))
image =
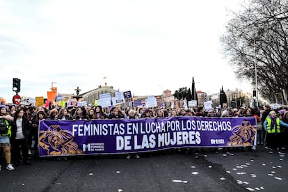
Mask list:
POLYGON ((280 118, 276 116, 275 111, 270 111, 266 120, 263 123, 263 127, 266 131, 266 142, 267 146, 272 150, 273 148, 279 150, 281 141, 280 141, 280 125, 283 127, 288 127, 288 124, 282 122, 280 118))

